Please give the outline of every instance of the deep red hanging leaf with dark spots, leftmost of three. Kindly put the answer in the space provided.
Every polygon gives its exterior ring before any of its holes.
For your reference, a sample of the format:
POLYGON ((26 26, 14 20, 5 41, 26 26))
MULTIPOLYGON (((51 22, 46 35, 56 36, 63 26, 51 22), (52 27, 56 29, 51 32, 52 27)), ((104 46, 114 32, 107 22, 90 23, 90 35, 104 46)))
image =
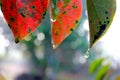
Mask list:
POLYGON ((1 0, 3 15, 10 26, 15 42, 36 30, 44 19, 48 0, 1 0))

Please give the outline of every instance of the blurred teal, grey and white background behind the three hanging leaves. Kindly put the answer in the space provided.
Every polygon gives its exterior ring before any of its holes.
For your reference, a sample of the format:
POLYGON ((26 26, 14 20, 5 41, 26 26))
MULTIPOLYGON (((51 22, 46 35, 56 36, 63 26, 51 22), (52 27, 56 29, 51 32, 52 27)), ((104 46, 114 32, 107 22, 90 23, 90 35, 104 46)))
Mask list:
POLYGON ((88 49, 89 28, 83 0, 79 26, 53 49, 48 11, 41 26, 18 44, 0 11, 0 80, 120 80, 119 14, 117 5, 110 29, 88 49))

